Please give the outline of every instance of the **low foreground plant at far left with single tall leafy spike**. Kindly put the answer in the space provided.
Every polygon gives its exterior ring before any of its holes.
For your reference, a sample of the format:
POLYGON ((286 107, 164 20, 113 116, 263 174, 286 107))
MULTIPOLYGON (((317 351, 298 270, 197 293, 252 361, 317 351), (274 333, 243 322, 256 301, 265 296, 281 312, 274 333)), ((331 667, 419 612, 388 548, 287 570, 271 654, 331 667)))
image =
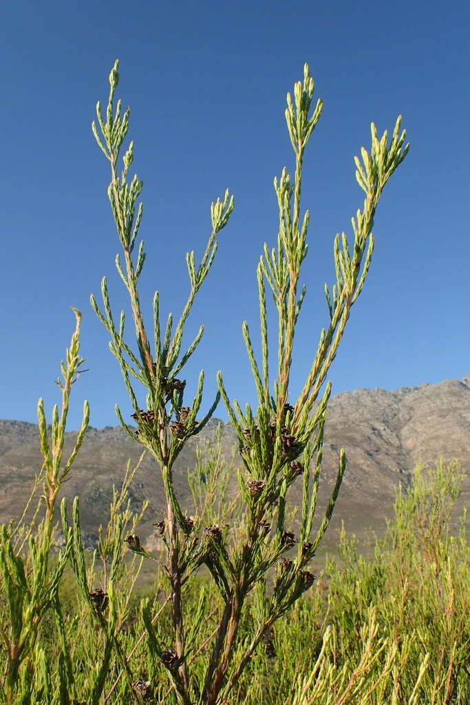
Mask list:
MULTIPOLYGON (((0 627, 1 651, 6 653, 6 663, 2 664, 0 687, 4 690, 7 705, 16 702, 31 701, 32 694, 44 695, 44 679, 47 673, 44 651, 37 649, 39 627, 50 608, 54 608, 61 644, 65 635, 61 607, 58 602, 58 585, 63 570, 70 556, 73 534, 65 534, 65 547, 58 554, 57 565, 50 570, 50 553, 54 539, 54 510, 61 485, 66 481, 73 461, 82 445, 89 419, 89 406, 85 402, 80 431, 73 450, 63 463, 64 434, 70 391, 85 360, 80 357, 80 319, 81 314, 73 309, 77 319, 75 332, 66 351, 66 362, 61 362, 63 379, 56 384, 61 389, 62 403, 59 415, 58 406, 54 405, 52 425, 48 434, 44 403, 39 399, 37 416, 39 419, 39 440, 44 459, 42 472, 37 477, 30 501, 37 486, 42 482, 44 495, 39 499, 37 510, 29 525, 25 525, 25 515, 14 527, 0 525, 0 594, 6 598, 7 621, 0 627), (39 511, 44 511, 43 520, 35 527, 39 511), (25 551, 25 545, 27 550, 25 551), (38 685, 38 682, 41 682, 38 685)), ((61 502, 61 511, 66 510, 65 499, 61 502)), ((59 649, 60 687, 66 687, 65 650, 59 649)))

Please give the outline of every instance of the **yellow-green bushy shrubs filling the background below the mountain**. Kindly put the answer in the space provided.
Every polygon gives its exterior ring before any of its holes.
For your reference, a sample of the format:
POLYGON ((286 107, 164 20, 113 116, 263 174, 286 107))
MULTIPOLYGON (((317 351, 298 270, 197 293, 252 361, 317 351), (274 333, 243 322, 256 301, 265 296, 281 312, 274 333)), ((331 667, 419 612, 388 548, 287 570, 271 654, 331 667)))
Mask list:
MULTIPOLYGON (((445 465, 442 460, 428 474, 418 467, 409 491, 397 494, 395 518, 385 537, 376 542, 372 558, 364 558, 357 540, 343 533, 340 560, 327 560, 311 591, 287 613, 287 619, 276 623, 242 674, 228 704, 467 704, 470 553, 463 521, 457 532, 450 530, 452 506, 461 479, 458 466, 445 465)), ((98 587, 103 576, 97 556, 94 558, 94 564, 89 562, 88 578, 90 585, 98 587)), ((138 570, 135 558, 134 554, 126 554, 116 585, 120 599, 128 600, 119 632, 126 656, 145 632, 142 601, 147 598, 154 602, 156 610, 164 602, 158 572, 156 584, 132 591, 130 583, 138 570)), ((71 570, 64 572, 58 595, 70 648, 73 697, 87 702, 89 676, 101 658, 103 635, 94 626, 87 605, 80 600, 71 570)), ((209 595, 206 579, 196 578, 184 596, 189 612, 195 615, 199 601, 209 595)), ((214 614, 197 635, 200 645, 210 639, 222 606, 213 600, 211 596, 214 614)), ((254 622, 251 610, 250 604, 240 648, 250 637, 254 622)), ((8 630, 4 599, 1 624, 2 630, 8 630)), ((156 620, 155 632, 164 646, 171 633, 168 605, 156 620)), ((60 702, 59 637, 57 615, 49 609, 32 656, 33 661, 43 659, 47 664, 49 696, 38 668, 32 703, 60 702)), ((146 635, 128 662, 133 682, 140 678, 151 681, 154 698, 147 701, 173 703, 166 670, 150 654, 146 635)), ((203 648, 194 661, 201 670, 207 654, 209 649, 203 648)), ((4 656, 1 654, 2 661, 4 656)), ((120 670, 113 654, 104 694, 110 693, 120 670)), ((128 680, 120 678, 109 699, 101 701, 116 705, 134 701, 128 680)), ((0 694, 0 703, 4 702, 0 694)))

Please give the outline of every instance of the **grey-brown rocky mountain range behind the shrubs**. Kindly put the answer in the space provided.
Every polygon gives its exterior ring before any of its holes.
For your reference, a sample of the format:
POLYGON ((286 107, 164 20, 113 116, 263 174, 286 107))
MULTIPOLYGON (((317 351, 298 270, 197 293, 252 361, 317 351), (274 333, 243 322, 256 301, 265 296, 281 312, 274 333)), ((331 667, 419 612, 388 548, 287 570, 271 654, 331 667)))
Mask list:
MULTIPOLYGON (((201 439, 214 438, 218 426, 212 419, 201 439)), ((237 440, 230 424, 222 426, 223 450, 230 458, 237 440)), ((66 434, 66 451, 77 434, 66 434)), ((188 441, 173 471, 175 489, 181 504, 191 513, 192 500, 187 486, 187 468, 195 462, 197 444, 188 441)), ((347 470, 335 514, 326 535, 325 545, 338 540, 341 522, 364 538, 373 529, 385 529, 385 519, 392 515, 397 484, 407 484, 416 463, 433 466, 440 455, 446 461, 460 460, 466 480, 459 507, 469 505, 470 498, 470 375, 462 381, 421 384, 388 392, 383 389, 356 389, 330 399, 323 446, 323 482, 319 493, 319 521, 335 481, 340 448, 347 454, 347 470)), ((61 496, 70 508, 75 495, 80 496, 82 529, 87 543, 94 545, 97 527, 106 525, 113 484, 120 487, 125 468, 135 466, 142 446, 132 442, 120 427, 90 427, 85 441, 63 485, 61 496)), ((242 467, 235 453, 235 466, 242 467)), ((35 424, 0 420, 0 522, 18 519, 23 513, 32 483, 42 466, 39 435, 35 424)), ((235 471, 232 489, 236 491, 235 471)), ((290 491, 290 501, 299 504, 302 481, 290 491)), ((140 526, 142 539, 149 537, 152 522, 163 518, 164 501, 159 468, 146 455, 130 486, 132 510, 140 510, 142 501, 150 501, 140 526)))

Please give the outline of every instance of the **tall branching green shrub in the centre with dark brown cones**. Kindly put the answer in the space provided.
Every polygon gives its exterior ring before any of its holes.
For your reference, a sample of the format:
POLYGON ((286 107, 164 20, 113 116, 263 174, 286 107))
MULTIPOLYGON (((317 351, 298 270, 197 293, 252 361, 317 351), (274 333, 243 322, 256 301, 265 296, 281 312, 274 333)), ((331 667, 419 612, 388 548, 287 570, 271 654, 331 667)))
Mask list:
MULTIPOLYGON (((371 125, 371 151, 361 148, 361 159, 355 158, 356 177, 365 192, 362 209, 352 218, 354 243, 352 249, 345 233, 336 235, 334 260, 336 283, 333 295, 325 286, 328 305, 328 328, 321 331, 319 347, 310 372, 297 400, 289 397, 292 350, 297 319, 302 308, 305 286, 301 283, 302 262, 307 255, 307 228, 309 214, 301 212, 302 166, 309 138, 321 115, 323 103, 317 100, 313 111, 314 81, 309 67, 304 66, 304 80, 297 82, 294 98, 287 94, 285 111, 287 130, 295 153, 295 173, 291 180, 284 169, 274 181, 279 208, 277 247, 264 245, 257 280, 261 319, 261 362, 256 360, 247 323, 243 336, 252 365, 259 405, 256 411, 246 405, 242 411, 234 401, 230 403, 218 374, 219 393, 209 412, 199 418, 202 405, 204 374, 199 376, 197 394, 192 401, 185 399, 183 368, 202 338, 203 329, 187 350, 182 350, 183 329, 194 298, 209 274, 217 250, 218 233, 228 223, 233 211, 233 197, 228 190, 223 200, 211 204, 211 234, 201 262, 197 264, 194 252, 186 255, 189 274, 187 303, 173 326, 168 315, 162 334, 159 295, 153 300, 154 330, 152 341, 144 326, 137 283, 144 266, 144 243, 141 241, 135 255, 137 234, 142 219, 142 204, 137 200, 142 181, 134 176, 128 180, 133 160, 133 143, 123 154, 122 170, 118 161, 129 129, 129 109, 121 111, 120 100, 114 105, 118 85, 118 61, 109 76, 106 116, 97 104, 97 124, 94 136, 111 166, 108 188, 111 210, 118 238, 123 247, 123 262, 116 256, 116 268, 130 295, 132 318, 137 336, 137 353, 124 340, 125 315, 117 322, 111 310, 106 278, 101 283, 104 309, 99 309, 92 297, 92 307, 111 336, 111 352, 117 358, 128 390, 137 431, 125 422, 118 407, 116 412, 123 429, 137 443, 147 448, 159 466, 166 495, 166 517, 156 524, 166 548, 163 571, 168 579, 171 601, 172 633, 166 643, 159 642, 151 625, 149 601, 142 603, 142 619, 147 628, 147 647, 150 656, 159 660, 169 680, 168 693, 173 690, 182 705, 216 705, 226 701, 230 690, 240 678, 261 639, 309 589, 314 575, 309 562, 328 527, 335 501, 345 472, 345 450, 340 452, 338 475, 330 502, 319 530, 312 535, 316 498, 321 474, 323 429, 326 421, 331 384, 328 382, 315 412, 314 403, 326 379, 328 369, 338 351, 353 303, 361 293, 369 271, 373 251, 372 226, 378 201, 388 179, 408 151, 404 146, 405 133, 401 118, 397 119, 391 140, 385 131, 379 139, 371 125), (101 134, 99 134, 99 131, 101 134), (266 284, 271 290, 278 319, 278 351, 276 376, 271 388, 268 363, 268 309, 266 284), (147 391, 147 408, 137 403, 135 381, 147 391), (238 484, 245 502, 242 529, 230 532, 230 527, 218 524, 201 527, 197 517, 189 517, 180 505, 173 484, 173 465, 178 454, 190 439, 204 427, 216 409, 219 395, 240 442, 242 469, 238 484), (302 520, 299 536, 286 527, 285 502, 293 482, 303 482, 302 520), (295 556, 285 554, 295 548, 295 556), (196 617, 190 621, 185 614, 183 586, 197 569, 206 565, 214 579, 222 608, 217 615, 216 628, 211 639, 199 644, 199 627, 204 623, 209 606, 202 600, 196 617), (271 569, 276 567, 273 586, 267 589, 271 569), (241 626, 246 615, 247 599, 254 597, 255 623, 251 637, 242 638, 241 626)), ((132 551, 148 556, 136 534, 128 537, 132 551)), ((211 603, 209 603, 211 606, 211 603)), ((246 630, 244 632, 246 634, 246 630)))

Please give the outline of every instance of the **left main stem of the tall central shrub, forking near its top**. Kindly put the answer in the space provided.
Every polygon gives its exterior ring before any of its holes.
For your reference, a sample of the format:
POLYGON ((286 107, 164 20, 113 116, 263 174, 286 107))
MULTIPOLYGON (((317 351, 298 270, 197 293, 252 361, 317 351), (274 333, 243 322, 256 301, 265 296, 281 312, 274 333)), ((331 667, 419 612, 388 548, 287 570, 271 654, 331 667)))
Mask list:
MULTIPOLYGON (((120 267, 119 256, 116 257, 116 268, 118 274, 123 279, 130 295, 132 317, 135 323, 137 336, 137 347, 140 352, 139 358, 132 353, 128 345, 123 341, 124 314, 121 313, 119 327, 116 328, 109 297, 107 291, 106 278, 101 284, 103 294, 104 312, 97 306, 94 297, 91 298, 92 307, 103 322, 106 329, 111 334, 111 350, 118 359, 121 371, 135 413, 133 417, 137 421, 137 431, 126 424, 116 407, 116 412, 120 423, 125 431, 142 443, 154 457, 159 465, 163 486, 166 493, 166 517, 160 522, 160 533, 165 541, 167 560, 163 565, 164 572, 168 577, 171 610, 174 632, 173 649, 160 649, 159 657, 168 670, 168 676, 178 693, 178 698, 183 705, 190 705, 191 689, 195 686, 190 681, 187 670, 187 654, 185 653, 185 620, 182 603, 182 586, 187 580, 187 570, 194 570, 196 564, 200 564, 201 559, 197 554, 197 541, 190 539, 193 531, 193 522, 190 517, 183 514, 175 496, 173 489, 173 464, 178 454, 185 446, 187 440, 199 433, 214 412, 218 403, 219 395, 202 419, 196 420, 197 412, 202 403, 202 391, 204 384, 204 373, 199 375, 197 395, 192 401, 192 405, 183 405, 183 393, 185 381, 177 379, 176 374, 183 368, 185 362, 194 353, 202 337, 203 328, 199 330, 193 343, 186 353, 181 354, 181 343, 183 338, 183 326, 192 308, 195 295, 202 286, 204 279, 209 274, 217 250, 216 235, 225 227, 230 213, 233 211, 233 197, 228 191, 225 192, 223 200, 218 199, 211 204, 212 230, 207 243, 206 250, 202 256, 199 266, 196 265, 194 252, 188 252, 186 256, 188 275, 190 278, 190 293, 187 303, 183 308, 177 326, 173 331, 173 317, 170 314, 166 324, 166 331, 161 338, 161 324, 159 312, 159 295, 154 296, 154 356, 151 353, 147 333, 144 329, 144 322, 140 307, 139 293, 137 290, 137 280, 144 264, 143 243, 140 243, 137 254, 137 262, 132 260, 132 251, 135 239, 140 227, 142 218, 142 204, 135 212, 137 197, 142 190, 142 182, 134 176, 130 183, 126 178, 128 169, 133 159, 133 144, 130 143, 123 157, 123 171, 118 176, 117 164, 120 148, 128 132, 129 109, 123 116, 120 114, 120 101, 113 106, 113 97, 118 85, 118 61, 113 66, 109 81, 110 94, 106 109, 106 122, 101 116, 101 109, 97 104, 97 118, 101 128, 102 137, 98 135, 97 125, 92 123, 94 136, 101 147, 101 150, 109 159, 111 164, 111 183, 108 194, 111 202, 116 229, 125 258, 125 272, 120 267), (142 410, 137 405, 137 398, 130 382, 130 375, 134 376, 147 388, 147 410, 142 410), (173 419, 173 420, 172 420, 173 419)), ((133 538, 133 537, 130 537, 133 538)), ((130 548, 137 552, 141 551, 140 542, 133 540, 129 542, 130 548)), ((197 687, 196 687, 197 689, 197 687)))

